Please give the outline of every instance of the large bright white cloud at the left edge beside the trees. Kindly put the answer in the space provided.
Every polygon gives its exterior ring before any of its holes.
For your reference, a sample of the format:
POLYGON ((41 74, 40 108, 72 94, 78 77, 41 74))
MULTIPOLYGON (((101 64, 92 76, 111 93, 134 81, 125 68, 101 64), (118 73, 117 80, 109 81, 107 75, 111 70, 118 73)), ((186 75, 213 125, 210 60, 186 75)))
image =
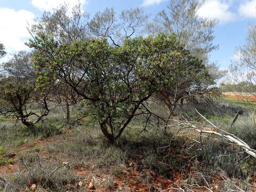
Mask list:
POLYGON ((27 23, 33 22, 35 14, 27 10, 0 8, 0 42, 7 53, 28 49, 24 44, 30 36, 27 23))

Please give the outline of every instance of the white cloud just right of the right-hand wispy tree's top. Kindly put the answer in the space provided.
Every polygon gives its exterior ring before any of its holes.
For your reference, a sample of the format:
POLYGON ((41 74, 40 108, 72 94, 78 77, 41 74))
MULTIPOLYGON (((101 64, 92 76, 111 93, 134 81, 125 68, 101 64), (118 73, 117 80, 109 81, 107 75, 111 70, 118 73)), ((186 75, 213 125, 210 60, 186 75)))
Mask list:
POLYGON ((227 23, 236 19, 235 13, 229 11, 231 1, 206 0, 205 4, 197 11, 202 18, 218 19, 220 23, 227 23))

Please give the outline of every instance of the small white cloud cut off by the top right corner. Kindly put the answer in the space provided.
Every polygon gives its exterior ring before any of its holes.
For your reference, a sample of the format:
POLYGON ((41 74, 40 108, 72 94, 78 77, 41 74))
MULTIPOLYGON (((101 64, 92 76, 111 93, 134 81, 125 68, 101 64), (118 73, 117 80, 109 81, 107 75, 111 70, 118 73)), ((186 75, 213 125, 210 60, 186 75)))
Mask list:
POLYGON ((238 13, 246 18, 256 18, 256 0, 241 3, 238 7, 238 13))

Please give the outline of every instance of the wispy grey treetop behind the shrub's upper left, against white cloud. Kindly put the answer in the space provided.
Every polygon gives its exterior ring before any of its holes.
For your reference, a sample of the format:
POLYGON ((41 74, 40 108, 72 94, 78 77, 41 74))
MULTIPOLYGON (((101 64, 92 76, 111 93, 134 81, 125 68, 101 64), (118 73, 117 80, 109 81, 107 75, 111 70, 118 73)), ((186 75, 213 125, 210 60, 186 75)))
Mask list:
POLYGON ((62 4, 58 9, 44 12, 28 29, 31 35, 51 33, 59 42, 70 42, 72 39, 89 37, 88 23, 89 14, 82 9, 81 4, 74 7, 62 4))

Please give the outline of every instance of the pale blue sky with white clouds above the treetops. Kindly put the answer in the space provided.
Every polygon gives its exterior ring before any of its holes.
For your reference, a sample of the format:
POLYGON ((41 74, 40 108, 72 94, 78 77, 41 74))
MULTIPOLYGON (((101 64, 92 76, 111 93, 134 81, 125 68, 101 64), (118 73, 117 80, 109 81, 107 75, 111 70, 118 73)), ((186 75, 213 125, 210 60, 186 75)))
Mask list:
MULTIPOLYGON (((41 17, 43 11, 51 11, 59 4, 70 5, 77 0, 0 0, 0 42, 7 51, 6 61, 11 54, 28 49, 24 45, 29 38, 27 23, 41 17)), ((166 9, 169 0, 81 0, 84 9, 93 16, 106 7, 114 7, 116 12, 124 9, 143 7, 147 13, 154 14, 166 9)), ((217 18, 219 24, 214 28, 214 44, 219 50, 211 53, 211 61, 217 61, 221 68, 228 68, 231 59, 239 59, 235 47, 243 45, 247 35, 247 25, 256 21, 256 0, 206 0, 198 11, 199 17, 217 18)))

